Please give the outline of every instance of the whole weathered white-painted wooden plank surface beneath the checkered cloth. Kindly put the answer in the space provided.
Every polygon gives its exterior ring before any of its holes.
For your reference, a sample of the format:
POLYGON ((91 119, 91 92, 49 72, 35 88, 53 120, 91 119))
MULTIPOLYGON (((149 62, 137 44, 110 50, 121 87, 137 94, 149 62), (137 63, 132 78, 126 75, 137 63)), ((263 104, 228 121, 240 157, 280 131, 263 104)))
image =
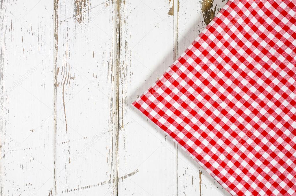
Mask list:
POLYGON ((0 0, 1 196, 229 195, 131 103, 222 0, 0 0))

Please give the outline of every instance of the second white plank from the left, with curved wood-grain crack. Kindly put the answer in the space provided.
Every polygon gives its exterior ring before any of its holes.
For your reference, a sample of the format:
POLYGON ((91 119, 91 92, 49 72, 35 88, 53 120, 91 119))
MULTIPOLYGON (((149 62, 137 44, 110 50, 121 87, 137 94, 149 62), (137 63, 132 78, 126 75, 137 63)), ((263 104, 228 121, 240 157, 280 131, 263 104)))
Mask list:
POLYGON ((54 9, 55 195, 117 195, 117 2, 54 9))

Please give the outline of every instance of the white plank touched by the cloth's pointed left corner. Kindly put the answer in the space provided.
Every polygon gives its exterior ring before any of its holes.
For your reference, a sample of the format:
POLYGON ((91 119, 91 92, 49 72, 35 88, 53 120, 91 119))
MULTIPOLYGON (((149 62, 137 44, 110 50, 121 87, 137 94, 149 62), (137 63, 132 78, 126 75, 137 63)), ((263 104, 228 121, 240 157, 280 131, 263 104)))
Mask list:
POLYGON ((120 5, 118 195, 176 195, 176 144, 131 104, 174 62, 173 1, 120 5))

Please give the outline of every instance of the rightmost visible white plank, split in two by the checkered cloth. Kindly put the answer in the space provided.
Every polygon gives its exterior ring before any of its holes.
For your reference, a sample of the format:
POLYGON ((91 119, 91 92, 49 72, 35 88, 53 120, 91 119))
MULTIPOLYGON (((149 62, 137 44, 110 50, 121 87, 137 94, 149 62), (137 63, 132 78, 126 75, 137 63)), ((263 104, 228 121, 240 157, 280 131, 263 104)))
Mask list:
MULTIPOLYGON (((179 56, 210 23, 226 1, 178 1, 179 56)), ((178 192, 181 195, 230 195, 181 148, 178 148, 178 192)))

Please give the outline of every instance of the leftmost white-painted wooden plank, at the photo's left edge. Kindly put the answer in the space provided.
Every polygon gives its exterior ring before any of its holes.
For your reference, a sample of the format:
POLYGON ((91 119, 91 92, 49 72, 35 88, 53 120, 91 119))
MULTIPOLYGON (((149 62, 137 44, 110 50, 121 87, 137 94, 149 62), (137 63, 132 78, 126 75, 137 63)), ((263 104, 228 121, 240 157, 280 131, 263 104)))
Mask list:
POLYGON ((0 194, 51 195, 52 1, 0 9, 0 194))

